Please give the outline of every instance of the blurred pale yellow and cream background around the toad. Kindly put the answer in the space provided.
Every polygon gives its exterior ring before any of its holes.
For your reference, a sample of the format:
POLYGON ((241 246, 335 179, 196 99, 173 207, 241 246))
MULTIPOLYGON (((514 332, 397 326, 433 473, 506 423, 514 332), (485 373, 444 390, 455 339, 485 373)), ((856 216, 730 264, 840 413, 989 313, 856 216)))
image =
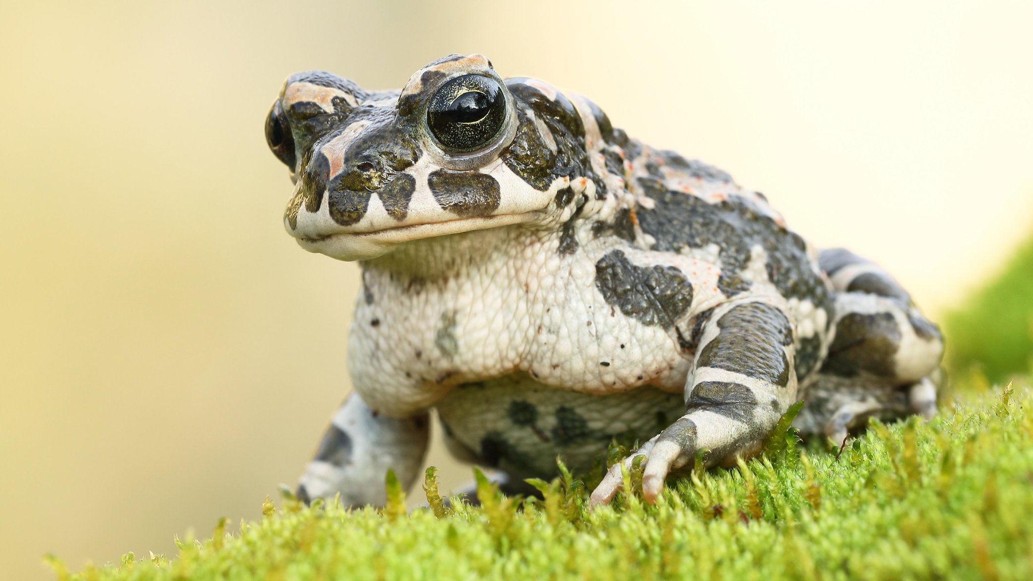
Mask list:
POLYGON ((0 577, 255 518, 348 391, 357 268, 283 232, 262 135, 287 74, 398 88, 483 53, 727 170, 935 314, 1033 224, 1031 22, 997 2, 5 2, 0 577))

